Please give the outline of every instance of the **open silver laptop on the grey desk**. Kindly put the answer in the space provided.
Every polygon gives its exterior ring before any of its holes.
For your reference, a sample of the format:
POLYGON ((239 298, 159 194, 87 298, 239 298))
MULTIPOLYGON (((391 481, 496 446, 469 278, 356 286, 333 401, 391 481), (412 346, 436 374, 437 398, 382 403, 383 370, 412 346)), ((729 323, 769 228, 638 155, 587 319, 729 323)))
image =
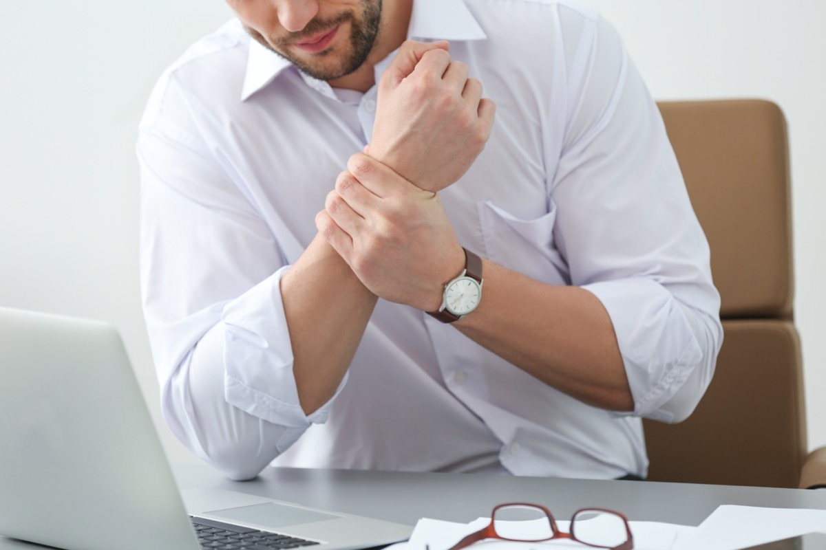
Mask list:
POLYGON ((182 495, 116 330, 0 308, 0 535, 67 550, 349 550, 411 531, 243 492, 182 495))

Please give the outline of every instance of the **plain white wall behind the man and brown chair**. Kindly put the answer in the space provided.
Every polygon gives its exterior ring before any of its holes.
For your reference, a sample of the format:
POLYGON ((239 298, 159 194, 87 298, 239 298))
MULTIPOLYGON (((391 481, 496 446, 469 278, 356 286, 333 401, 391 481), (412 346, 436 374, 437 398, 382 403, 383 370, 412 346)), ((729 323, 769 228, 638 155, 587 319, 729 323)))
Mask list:
MULTIPOLYGON (((657 99, 762 97, 786 111, 809 446, 826 444, 826 2, 591 4, 624 35, 657 99)), ((163 69, 229 16, 221 0, 0 3, 0 305, 116 325, 176 462, 194 458, 155 405, 135 128, 163 69)))

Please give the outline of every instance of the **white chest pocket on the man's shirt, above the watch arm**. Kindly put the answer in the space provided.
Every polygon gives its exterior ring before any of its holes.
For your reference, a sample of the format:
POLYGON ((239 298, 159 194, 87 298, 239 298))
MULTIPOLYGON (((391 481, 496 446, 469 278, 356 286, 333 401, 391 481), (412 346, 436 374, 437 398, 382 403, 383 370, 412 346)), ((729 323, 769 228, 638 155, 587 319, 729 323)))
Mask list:
POLYGON ((539 218, 522 219, 490 200, 477 203, 487 257, 501 266, 548 284, 570 284, 567 263, 553 237, 557 207, 550 202, 539 218))

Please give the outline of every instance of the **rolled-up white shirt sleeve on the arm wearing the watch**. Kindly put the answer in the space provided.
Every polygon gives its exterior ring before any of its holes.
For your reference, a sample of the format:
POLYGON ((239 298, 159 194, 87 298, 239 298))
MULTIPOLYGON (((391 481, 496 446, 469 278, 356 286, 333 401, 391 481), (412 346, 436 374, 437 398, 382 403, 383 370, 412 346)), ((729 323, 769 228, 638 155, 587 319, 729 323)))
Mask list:
POLYGON ((605 21, 582 40, 563 156, 550 200, 572 284, 595 294, 615 328, 634 411, 685 419, 722 344, 710 251, 657 106, 605 21))

